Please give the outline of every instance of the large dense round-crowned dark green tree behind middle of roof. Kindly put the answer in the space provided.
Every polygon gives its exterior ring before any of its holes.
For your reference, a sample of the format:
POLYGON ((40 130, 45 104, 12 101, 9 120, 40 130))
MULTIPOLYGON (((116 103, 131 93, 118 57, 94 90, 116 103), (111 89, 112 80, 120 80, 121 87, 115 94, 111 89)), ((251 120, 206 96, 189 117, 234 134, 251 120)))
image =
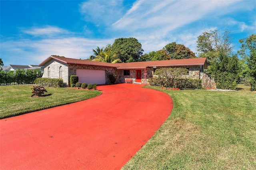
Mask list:
POLYGON ((139 61, 144 51, 136 38, 118 38, 114 41, 112 50, 112 54, 116 54, 124 63, 139 61))

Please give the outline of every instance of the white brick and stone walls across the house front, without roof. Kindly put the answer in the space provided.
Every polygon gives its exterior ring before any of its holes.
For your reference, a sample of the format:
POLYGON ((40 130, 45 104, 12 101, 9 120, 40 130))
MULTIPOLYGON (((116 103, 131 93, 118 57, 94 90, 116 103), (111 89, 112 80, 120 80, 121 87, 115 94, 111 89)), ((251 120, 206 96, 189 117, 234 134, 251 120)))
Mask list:
MULTIPOLYGON (((141 70, 141 83, 146 84, 148 78, 154 76, 154 71, 161 67, 149 67, 140 69, 141 70), (146 70, 146 75, 144 71, 146 70), (145 77, 146 76, 146 77, 145 77)), ((216 88, 216 83, 214 80, 210 79, 208 75, 203 73, 203 66, 187 66, 183 67, 189 69, 187 75, 183 75, 184 78, 191 79, 202 79, 203 88, 216 88)), ((106 71, 106 84, 110 84, 110 79, 108 75, 116 75, 116 83, 124 83, 125 79, 132 79, 133 83, 136 82, 136 70, 138 69, 129 69, 130 75, 124 75, 123 69, 117 69, 116 67, 106 67, 106 66, 92 66, 92 65, 79 65, 79 64, 65 64, 58 60, 52 59, 45 63, 44 65, 44 74, 43 77, 48 78, 59 78, 63 79, 63 82, 66 86, 70 86, 70 76, 76 75, 76 69, 96 69, 96 70, 105 70, 106 71)))

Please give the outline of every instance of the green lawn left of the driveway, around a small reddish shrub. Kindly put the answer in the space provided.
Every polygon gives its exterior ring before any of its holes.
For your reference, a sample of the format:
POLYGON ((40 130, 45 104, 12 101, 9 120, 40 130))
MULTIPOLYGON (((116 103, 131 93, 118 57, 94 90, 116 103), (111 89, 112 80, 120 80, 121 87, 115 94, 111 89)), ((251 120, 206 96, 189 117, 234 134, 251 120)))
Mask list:
POLYGON ((46 97, 32 98, 32 86, 0 86, 0 119, 89 99, 95 90, 45 87, 46 97))

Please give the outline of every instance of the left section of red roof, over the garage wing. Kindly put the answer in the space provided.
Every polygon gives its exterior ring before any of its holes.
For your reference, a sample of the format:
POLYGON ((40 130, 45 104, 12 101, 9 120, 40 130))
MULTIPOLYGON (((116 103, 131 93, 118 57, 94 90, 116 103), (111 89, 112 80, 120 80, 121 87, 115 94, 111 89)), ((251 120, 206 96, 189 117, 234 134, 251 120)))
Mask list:
POLYGON ((91 60, 85 60, 85 59, 74 59, 74 58, 66 58, 66 57, 60 57, 60 56, 50 56, 46 60, 44 60, 39 65, 44 65, 44 63, 50 61, 51 59, 56 59, 62 63, 66 64, 81 64, 81 65, 95 65, 95 66, 106 66, 106 67, 118 67, 118 65, 113 63, 105 63, 105 62, 98 62, 98 61, 91 61, 91 60))

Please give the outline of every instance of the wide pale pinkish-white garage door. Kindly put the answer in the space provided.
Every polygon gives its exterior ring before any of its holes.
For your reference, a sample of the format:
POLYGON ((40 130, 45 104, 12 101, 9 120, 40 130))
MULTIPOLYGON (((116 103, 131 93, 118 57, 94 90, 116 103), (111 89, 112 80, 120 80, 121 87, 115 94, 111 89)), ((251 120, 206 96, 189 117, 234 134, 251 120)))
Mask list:
POLYGON ((81 83, 106 83, 106 71, 105 70, 93 70, 93 69, 76 69, 76 75, 78 81, 81 83))

